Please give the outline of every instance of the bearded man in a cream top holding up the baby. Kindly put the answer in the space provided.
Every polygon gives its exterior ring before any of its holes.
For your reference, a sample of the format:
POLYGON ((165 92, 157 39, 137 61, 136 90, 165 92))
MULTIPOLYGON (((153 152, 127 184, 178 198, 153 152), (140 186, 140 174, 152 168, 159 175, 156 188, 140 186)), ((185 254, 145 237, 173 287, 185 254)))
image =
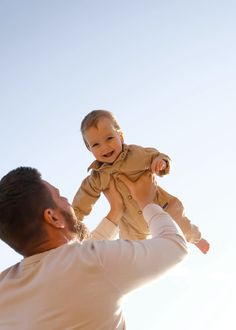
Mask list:
MULTIPOLYGON (((152 239, 85 240, 71 205, 32 168, 0 181, 0 238, 24 259, 0 275, 0 329, 125 329, 122 297, 155 280, 187 254, 182 232, 158 205, 151 174, 127 185, 152 239)), ((122 213, 112 183, 111 210, 92 238, 111 238, 122 213)))

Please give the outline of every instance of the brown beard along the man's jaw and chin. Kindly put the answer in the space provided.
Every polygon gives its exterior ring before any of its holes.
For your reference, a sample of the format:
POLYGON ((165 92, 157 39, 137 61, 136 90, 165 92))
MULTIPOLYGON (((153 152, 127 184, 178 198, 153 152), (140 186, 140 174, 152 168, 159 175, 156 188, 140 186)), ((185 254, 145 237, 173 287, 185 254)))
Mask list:
POLYGON ((61 210, 62 215, 64 216, 68 229, 74 234, 74 237, 83 241, 90 237, 88 228, 78 220, 76 217, 73 217, 69 212, 61 210))

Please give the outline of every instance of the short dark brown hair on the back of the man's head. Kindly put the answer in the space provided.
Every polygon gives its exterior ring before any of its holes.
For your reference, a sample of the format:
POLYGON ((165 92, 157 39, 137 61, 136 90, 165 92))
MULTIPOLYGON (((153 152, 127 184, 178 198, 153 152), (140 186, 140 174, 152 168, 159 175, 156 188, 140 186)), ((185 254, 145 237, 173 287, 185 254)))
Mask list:
POLYGON ((21 253, 45 235, 43 212, 54 208, 41 174, 31 167, 18 167, 0 181, 0 239, 21 253))

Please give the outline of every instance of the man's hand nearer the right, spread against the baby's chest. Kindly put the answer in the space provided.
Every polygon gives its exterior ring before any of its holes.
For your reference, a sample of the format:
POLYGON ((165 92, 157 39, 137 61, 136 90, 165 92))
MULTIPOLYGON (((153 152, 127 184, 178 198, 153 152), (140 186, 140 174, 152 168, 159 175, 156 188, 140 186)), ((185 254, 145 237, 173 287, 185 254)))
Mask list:
POLYGON ((127 186, 141 209, 147 204, 153 203, 156 194, 156 182, 154 174, 150 171, 146 171, 135 182, 130 181, 124 174, 119 174, 118 179, 127 186))

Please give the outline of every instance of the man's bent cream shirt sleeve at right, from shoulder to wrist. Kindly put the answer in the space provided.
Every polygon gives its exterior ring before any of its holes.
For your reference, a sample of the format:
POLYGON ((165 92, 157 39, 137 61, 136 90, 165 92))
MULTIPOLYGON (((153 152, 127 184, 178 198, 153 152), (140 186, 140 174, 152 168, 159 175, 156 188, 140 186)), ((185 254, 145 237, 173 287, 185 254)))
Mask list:
POLYGON ((143 213, 151 239, 93 242, 97 262, 121 296, 156 280, 187 254, 182 231, 161 207, 150 204, 143 213))

